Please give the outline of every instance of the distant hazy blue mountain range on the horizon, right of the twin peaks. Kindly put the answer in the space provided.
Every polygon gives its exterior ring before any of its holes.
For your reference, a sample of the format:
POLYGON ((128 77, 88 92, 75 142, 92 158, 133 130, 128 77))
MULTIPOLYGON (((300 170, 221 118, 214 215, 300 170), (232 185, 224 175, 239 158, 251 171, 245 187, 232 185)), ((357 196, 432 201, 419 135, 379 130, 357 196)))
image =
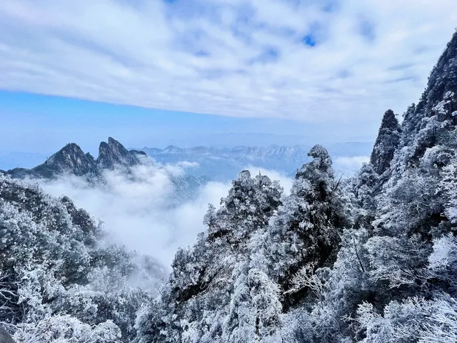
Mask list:
MULTIPOLYGON (((368 156, 371 143, 345 142, 332 144, 329 148, 333 156, 368 156)), ((233 148, 216 149, 205 146, 195 146, 182 149, 177 146, 167 146, 165 149, 144 147, 155 161, 161 164, 176 164, 183 161, 196 162, 198 168, 189 169, 194 176, 206 176, 216 181, 226 181, 236 177, 246 166, 258 166, 264 169, 276 170, 293 176, 297 166, 308 161, 309 147, 301 146, 235 146, 233 148)), ((340 166, 342 167, 342 166, 340 166)), ((346 172, 346 170, 343 170, 346 172)))

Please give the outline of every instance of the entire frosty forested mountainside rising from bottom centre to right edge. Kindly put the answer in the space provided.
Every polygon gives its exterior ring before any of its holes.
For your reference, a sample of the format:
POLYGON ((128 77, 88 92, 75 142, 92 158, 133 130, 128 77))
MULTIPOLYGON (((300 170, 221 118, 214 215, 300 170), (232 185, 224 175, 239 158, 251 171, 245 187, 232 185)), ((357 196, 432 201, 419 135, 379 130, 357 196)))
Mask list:
POLYGON ((288 196, 244 171, 209 206, 138 342, 457 342, 457 32, 358 174, 308 156, 288 196))

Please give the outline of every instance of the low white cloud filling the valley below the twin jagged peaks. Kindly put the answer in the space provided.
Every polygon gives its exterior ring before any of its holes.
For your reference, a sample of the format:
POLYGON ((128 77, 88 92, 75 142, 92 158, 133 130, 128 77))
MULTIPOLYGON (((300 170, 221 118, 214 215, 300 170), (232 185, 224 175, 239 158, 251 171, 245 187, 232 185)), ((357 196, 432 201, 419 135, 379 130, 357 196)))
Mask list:
POLYGON ((171 206, 172 174, 161 166, 135 166, 133 174, 104 172, 104 183, 94 187, 83 178, 64 176, 55 180, 34 179, 45 192, 70 197, 113 234, 114 242, 150 254, 169 266, 178 247, 194 244, 203 232, 208 204, 219 206, 230 184, 209 182, 198 197, 171 206))

